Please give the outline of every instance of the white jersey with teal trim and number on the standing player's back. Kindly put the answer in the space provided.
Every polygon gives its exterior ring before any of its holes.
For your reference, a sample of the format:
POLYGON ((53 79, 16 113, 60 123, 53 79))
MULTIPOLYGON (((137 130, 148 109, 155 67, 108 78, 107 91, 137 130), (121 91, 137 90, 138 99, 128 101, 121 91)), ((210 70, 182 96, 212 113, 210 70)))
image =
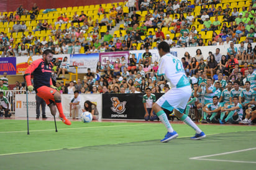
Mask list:
POLYGON ((167 53, 160 58, 158 76, 162 76, 170 82, 171 88, 190 86, 186 77, 182 62, 176 56, 167 53))

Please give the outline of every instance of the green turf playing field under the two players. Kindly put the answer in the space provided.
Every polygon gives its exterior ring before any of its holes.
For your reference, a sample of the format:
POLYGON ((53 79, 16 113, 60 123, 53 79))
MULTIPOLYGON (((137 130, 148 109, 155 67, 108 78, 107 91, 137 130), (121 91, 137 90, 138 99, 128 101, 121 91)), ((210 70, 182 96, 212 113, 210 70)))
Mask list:
POLYGON ((160 143, 162 123, 0 120, 0 169, 255 169, 255 126, 173 124, 179 137, 160 143))

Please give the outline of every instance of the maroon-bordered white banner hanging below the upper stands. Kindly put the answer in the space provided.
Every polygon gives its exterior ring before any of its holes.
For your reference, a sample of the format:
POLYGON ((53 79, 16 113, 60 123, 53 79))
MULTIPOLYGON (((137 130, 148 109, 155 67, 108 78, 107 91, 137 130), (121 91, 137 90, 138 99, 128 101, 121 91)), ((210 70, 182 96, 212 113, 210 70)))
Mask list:
POLYGON ((114 51, 114 52, 106 52, 106 53, 99 53, 99 61, 101 61, 101 66, 107 65, 107 60, 113 65, 116 61, 116 58, 120 58, 124 56, 126 58, 127 63, 129 63, 129 51, 114 51))

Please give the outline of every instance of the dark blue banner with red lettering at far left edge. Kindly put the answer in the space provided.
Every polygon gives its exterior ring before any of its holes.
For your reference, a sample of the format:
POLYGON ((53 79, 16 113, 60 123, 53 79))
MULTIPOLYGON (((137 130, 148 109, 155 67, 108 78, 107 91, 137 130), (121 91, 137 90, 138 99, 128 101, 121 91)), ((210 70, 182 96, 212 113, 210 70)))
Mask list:
POLYGON ((0 74, 16 74, 16 57, 0 58, 0 74))

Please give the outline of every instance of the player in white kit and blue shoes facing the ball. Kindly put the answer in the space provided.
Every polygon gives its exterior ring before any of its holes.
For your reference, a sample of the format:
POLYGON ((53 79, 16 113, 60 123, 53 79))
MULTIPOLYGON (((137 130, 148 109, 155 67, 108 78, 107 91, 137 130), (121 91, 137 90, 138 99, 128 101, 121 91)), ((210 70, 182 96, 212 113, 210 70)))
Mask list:
POLYGON ((191 137, 191 140, 199 140, 206 137, 204 132, 188 117, 183 114, 186 104, 191 96, 191 87, 181 60, 170 54, 168 43, 161 42, 158 44, 158 53, 160 55, 160 63, 158 68, 158 76, 164 76, 171 84, 171 89, 160 97, 153 105, 153 110, 165 125, 168 132, 161 142, 167 142, 178 136, 178 133, 173 130, 163 109, 173 110, 178 119, 183 120, 187 125, 196 131, 196 135, 191 137), (163 109, 162 109, 163 108, 163 109))

